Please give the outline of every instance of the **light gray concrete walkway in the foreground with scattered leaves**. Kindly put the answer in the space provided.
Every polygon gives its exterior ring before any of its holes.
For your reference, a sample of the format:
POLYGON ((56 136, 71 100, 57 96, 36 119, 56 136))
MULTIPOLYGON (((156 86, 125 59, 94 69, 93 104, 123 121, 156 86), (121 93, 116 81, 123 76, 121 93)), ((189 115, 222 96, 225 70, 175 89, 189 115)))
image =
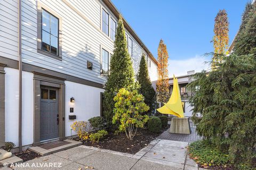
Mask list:
POLYGON ((156 139, 135 155, 78 146, 29 160, 24 163, 26 167, 13 167, 13 169, 198 170, 194 160, 187 156, 187 146, 188 142, 156 139), (55 167, 47 167, 54 163, 55 167), (38 167, 40 165, 44 167, 38 167))

